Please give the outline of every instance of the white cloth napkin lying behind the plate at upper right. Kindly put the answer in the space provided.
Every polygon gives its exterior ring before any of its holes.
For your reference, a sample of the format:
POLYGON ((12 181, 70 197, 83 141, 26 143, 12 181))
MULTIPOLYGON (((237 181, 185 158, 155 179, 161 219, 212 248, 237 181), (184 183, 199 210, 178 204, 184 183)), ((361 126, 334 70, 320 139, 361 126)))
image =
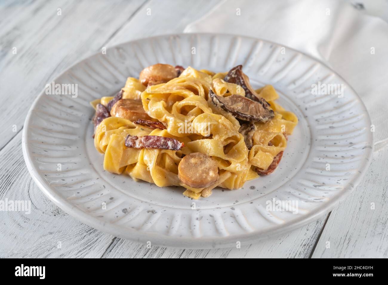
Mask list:
POLYGON ((326 62, 364 101, 376 151, 388 146, 388 24, 357 8, 338 0, 224 0, 184 31, 253 36, 326 62))

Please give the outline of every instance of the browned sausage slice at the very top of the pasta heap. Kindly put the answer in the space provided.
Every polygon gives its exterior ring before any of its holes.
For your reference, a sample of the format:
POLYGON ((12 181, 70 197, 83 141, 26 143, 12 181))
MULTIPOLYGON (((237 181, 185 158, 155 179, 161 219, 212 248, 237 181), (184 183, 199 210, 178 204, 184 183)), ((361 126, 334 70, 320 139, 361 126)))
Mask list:
POLYGON ((145 86, 166 83, 178 76, 177 69, 170 64, 157 63, 144 68, 140 72, 139 80, 145 86))

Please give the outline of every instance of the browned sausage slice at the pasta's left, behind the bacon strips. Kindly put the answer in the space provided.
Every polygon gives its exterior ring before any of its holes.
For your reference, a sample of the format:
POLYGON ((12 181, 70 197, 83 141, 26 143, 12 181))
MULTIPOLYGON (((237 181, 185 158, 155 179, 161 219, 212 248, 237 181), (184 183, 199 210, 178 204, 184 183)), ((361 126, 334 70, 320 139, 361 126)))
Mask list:
POLYGON ((111 115, 113 117, 120 117, 131 122, 136 120, 152 120, 143 109, 142 101, 133 99, 120 99, 113 105, 111 109, 111 115))

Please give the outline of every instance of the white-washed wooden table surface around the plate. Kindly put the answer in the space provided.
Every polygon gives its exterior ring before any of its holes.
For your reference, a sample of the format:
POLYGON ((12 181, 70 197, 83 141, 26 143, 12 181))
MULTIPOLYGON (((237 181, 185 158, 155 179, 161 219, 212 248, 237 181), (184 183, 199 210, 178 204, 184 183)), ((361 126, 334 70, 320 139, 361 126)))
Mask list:
POLYGON ((28 109, 47 82, 102 47, 182 32, 216 3, 190 1, 187 9, 186 1, 0 2, 0 200, 32 203, 29 215, 0 212, 0 257, 388 257, 387 148, 374 153, 364 180, 343 202, 346 207, 241 249, 147 249, 82 224, 33 182, 21 134, 28 109))

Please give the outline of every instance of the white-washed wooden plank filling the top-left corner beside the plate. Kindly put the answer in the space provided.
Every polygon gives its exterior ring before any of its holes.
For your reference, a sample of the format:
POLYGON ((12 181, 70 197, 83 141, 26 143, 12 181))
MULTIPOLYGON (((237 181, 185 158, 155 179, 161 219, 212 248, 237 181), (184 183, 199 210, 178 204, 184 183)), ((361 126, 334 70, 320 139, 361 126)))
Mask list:
POLYGON ((0 5, 0 149, 23 127, 33 100, 57 75, 95 52, 145 0, 0 5), (57 15, 61 9, 61 15, 57 15), (122 15, 118 17, 118 15, 122 15), (16 54, 14 54, 16 48, 16 54))

